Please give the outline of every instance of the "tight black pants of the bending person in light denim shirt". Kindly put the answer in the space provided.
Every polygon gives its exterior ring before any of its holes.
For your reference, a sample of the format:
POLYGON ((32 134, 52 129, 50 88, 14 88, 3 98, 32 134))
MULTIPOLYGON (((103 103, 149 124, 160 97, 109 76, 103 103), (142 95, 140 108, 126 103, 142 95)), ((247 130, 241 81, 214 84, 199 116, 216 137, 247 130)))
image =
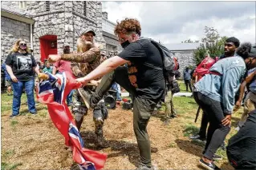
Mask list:
POLYGON ((217 148, 221 146, 226 135, 230 132, 230 126, 224 126, 221 124, 221 121, 226 116, 224 115, 221 102, 214 101, 200 92, 194 92, 193 97, 209 117, 209 128, 207 132, 204 156, 209 160, 213 160, 213 155, 217 151, 217 148))

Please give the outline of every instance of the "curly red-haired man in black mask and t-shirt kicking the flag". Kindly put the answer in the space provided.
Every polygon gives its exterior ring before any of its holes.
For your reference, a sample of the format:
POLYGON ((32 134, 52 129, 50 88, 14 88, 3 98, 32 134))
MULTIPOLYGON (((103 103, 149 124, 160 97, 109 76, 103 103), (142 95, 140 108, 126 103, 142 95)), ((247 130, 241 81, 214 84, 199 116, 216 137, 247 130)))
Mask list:
POLYGON ((151 148, 147 125, 156 104, 165 91, 165 79, 161 53, 148 39, 140 38, 140 23, 136 19, 126 18, 117 24, 118 35, 124 50, 117 56, 110 57, 86 77, 77 81, 86 85, 89 81, 104 76, 92 96, 87 95, 91 108, 116 81, 133 97, 133 128, 140 149, 140 168, 153 169, 151 148), (127 64, 127 66, 120 66, 127 64))

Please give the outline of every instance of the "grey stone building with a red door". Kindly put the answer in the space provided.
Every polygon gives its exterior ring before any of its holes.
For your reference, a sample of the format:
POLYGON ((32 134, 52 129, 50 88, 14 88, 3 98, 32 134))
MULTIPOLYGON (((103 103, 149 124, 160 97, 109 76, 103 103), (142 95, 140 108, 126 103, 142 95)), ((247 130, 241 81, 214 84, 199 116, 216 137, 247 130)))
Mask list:
MULTIPOLYGON (((116 50, 111 41, 106 44, 105 37, 117 41, 111 31, 104 31, 102 4, 96 1, 31 1, 1 2, 1 57, 5 59, 12 45, 18 38, 25 39, 30 49, 34 50, 35 59, 43 61, 49 54, 62 53, 63 45, 76 50, 79 32, 87 26, 95 29, 95 41, 102 44, 102 49, 116 50)), ((113 29, 113 27, 112 27, 113 29)))

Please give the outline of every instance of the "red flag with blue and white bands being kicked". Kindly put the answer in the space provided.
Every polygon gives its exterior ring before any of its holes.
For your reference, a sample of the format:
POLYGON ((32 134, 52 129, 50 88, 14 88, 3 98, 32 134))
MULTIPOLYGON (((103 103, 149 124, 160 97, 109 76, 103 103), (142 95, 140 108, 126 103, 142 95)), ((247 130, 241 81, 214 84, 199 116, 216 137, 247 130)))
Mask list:
POLYGON ((40 103, 46 104, 51 120, 65 138, 65 144, 73 152, 73 160, 83 170, 97 170, 104 168, 107 154, 83 148, 83 139, 75 126, 75 121, 65 103, 71 89, 78 89, 81 83, 69 73, 52 75, 41 74, 45 81, 37 84, 37 98, 40 103))

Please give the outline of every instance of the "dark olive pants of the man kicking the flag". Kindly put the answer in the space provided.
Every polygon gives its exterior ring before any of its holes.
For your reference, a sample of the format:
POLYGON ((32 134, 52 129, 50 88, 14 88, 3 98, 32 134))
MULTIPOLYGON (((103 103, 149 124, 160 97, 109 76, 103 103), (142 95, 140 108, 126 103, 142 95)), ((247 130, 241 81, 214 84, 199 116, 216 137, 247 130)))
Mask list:
POLYGON ((104 75, 100 81, 100 85, 98 85, 95 93, 91 96, 91 102, 93 105, 98 103, 115 81, 121 87, 126 89, 128 93, 132 94, 133 130, 140 150, 140 161, 142 164, 150 168, 152 166, 151 147, 147 132, 147 125, 149 118, 156 107, 156 103, 145 100, 136 95, 136 89, 128 79, 127 67, 118 67, 115 71, 104 75))

